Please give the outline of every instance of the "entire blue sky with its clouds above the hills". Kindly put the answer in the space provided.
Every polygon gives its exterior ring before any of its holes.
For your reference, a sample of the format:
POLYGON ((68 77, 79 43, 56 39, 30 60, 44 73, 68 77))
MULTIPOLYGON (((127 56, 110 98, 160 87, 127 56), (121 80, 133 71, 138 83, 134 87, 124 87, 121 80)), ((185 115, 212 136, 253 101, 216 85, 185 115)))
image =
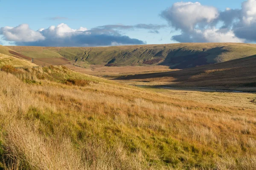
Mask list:
POLYGON ((255 43, 256 0, 0 0, 0 44, 255 43))

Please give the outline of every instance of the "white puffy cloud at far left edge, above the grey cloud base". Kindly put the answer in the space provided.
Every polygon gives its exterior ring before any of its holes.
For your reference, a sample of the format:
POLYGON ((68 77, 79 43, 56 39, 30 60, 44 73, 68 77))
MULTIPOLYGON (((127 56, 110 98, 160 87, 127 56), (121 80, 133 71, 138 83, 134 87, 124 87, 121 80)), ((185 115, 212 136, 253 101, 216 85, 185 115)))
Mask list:
POLYGON ((28 24, 21 24, 17 27, 2 27, 0 34, 4 36, 5 40, 16 42, 34 42, 45 39, 39 31, 30 29, 28 24))

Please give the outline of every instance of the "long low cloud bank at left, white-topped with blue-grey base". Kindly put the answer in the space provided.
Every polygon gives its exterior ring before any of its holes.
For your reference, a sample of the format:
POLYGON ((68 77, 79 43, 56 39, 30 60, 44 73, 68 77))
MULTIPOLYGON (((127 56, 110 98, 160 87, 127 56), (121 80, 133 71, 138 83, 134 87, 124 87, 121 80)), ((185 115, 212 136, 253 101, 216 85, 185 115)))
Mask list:
POLYGON ((125 44, 144 44, 145 42, 132 39, 113 29, 80 27, 72 29, 67 24, 41 28, 33 31, 27 24, 15 28, 2 27, 0 34, 7 41, 14 41, 16 45, 35 46, 108 46, 125 44))

